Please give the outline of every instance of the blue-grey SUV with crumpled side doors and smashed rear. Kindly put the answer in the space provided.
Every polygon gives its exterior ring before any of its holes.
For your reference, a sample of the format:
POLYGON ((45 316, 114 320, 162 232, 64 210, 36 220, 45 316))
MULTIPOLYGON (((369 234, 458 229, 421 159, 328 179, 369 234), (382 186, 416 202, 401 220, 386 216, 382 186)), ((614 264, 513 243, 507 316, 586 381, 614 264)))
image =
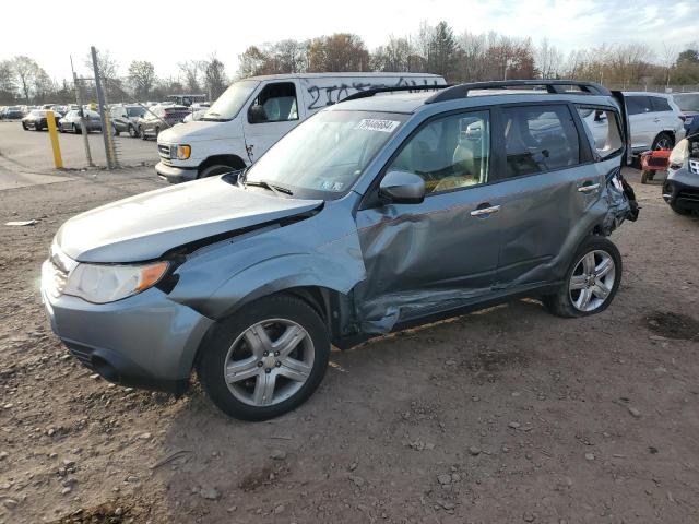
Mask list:
POLYGON ((628 123, 599 84, 381 88, 298 126, 247 171, 140 194, 61 226, 51 326, 105 379, 266 419, 318 388, 331 344, 511 300, 603 311, 606 237, 637 206, 628 123), (391 92, 391 93, 387 93, 391 92))

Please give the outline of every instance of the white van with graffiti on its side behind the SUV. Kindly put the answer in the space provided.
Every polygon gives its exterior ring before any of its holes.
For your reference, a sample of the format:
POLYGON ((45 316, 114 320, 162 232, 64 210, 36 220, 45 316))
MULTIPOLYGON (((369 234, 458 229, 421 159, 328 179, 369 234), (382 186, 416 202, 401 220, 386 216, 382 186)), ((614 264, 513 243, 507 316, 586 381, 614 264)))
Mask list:
POLYGON ((159 177, 170 182, 242 169, 299 122, 325 106, 377 87, 445 85, 423 73, 305 73, 252 76, 234 83, 201 120, 159 133, 159 177))

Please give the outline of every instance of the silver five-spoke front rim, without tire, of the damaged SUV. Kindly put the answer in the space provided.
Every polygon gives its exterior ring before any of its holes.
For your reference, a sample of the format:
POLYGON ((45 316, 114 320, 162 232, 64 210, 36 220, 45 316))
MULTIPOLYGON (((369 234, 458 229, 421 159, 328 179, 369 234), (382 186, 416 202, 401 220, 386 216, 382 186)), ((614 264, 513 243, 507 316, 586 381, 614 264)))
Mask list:
POLYGON ((251 325, 230 345, 224 380, 230 393, 252 406, 279 404, 298 392, 313 367, 308 332, 287 319, 251 325))

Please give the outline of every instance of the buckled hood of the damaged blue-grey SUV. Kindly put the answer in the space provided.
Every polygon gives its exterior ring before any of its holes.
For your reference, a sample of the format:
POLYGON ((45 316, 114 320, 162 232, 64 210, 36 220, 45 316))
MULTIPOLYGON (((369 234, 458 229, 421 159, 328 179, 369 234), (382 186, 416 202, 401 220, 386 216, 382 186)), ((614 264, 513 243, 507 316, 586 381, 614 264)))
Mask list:
POLYGON ((202 238, 315 210, 322 201, 239 189, 220 177, 180 183, 82 213, 56 242, 79 262, 139 262, 202 238))

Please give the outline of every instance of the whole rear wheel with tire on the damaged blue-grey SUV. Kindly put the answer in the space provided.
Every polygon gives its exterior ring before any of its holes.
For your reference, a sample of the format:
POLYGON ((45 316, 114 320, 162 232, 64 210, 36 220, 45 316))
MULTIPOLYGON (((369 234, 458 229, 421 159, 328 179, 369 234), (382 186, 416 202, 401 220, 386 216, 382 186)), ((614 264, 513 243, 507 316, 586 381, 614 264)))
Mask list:
POLYGON ((566 279, 544 306, 558 317, 587 317, 604 311, 621 282, 621 254, 607 238, 592 236, 576 251, 566 279))

